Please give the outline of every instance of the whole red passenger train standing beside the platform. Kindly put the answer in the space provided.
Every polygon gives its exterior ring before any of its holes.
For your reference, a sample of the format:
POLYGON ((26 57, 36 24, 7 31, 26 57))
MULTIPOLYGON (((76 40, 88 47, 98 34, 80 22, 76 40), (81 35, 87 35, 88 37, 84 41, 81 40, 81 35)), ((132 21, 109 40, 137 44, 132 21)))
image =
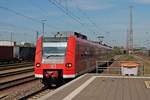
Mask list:
POLYGON ((96 60, 106 60, 111 48, 87 40, 85 35, 70 33, 60 37, 43 37, 37 41, 35 77, 52 85, 95 69, 96 60))

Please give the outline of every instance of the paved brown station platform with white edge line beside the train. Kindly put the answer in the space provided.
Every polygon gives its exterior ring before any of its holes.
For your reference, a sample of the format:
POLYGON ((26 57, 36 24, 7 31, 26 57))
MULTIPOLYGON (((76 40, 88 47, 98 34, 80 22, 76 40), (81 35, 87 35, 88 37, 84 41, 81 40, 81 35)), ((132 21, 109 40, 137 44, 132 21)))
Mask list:
POLYGON ((39 100, 150 100, 150 77, 85 74, 39 100))

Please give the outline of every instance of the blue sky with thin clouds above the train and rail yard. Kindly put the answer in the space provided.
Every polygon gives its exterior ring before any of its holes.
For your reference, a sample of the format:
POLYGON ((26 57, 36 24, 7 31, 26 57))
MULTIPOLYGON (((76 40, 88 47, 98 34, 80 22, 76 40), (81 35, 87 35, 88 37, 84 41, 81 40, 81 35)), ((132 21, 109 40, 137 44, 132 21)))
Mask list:
POLYGON ((46 19, 46 35, 77 31, 90 40, 103 35, 109 45, 125 46, 130 5, 133 6, 134 46, 150 47, 150 0, 0 0, 0 40, 9 40, 13 32, 13 40, 35 42, 35 31, 42 31, 41 23, 1 8, 5 7, 39 21, 46 19), (59 2, 83 25, 49 1, 59 2))

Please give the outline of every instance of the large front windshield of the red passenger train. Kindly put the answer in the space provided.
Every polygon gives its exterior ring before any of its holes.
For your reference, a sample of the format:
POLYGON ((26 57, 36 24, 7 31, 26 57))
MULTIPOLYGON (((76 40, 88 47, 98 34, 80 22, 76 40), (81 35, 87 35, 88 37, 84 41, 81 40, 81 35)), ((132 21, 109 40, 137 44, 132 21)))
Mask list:
POLYGON ((43 57, 65 56, 67 42, 43 43, 43 57))

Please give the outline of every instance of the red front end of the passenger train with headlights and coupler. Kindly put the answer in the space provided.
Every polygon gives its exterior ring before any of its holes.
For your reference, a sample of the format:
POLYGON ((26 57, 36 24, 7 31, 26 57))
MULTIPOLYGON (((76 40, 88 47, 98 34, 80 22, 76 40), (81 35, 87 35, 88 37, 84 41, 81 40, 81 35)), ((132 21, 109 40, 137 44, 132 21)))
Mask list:
POLYGON ((38 39, 34 66, 35 77, 41 78, 44 85, 61 84, 64 78, 74 74, 74 55, 72 54, 74 41, 74 38, 68 37, 38 39), (70 50, 69 46, 71 46, 70 50))

